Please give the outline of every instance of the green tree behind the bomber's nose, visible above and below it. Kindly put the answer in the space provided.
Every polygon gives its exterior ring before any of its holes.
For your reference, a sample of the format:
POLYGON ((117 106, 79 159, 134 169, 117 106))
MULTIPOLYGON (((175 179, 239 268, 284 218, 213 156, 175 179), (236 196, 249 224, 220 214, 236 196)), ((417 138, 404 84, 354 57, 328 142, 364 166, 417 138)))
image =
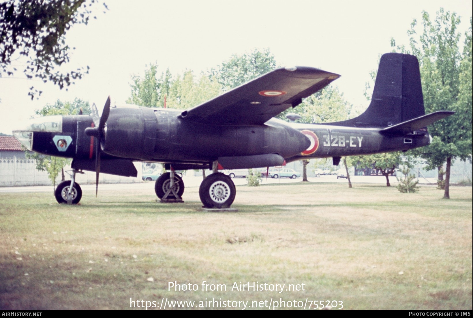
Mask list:
MULTIPOLYGON (((90 114, 90 105, 79 98, 75 98, 74 102, 61 102, 57 100, 53 105, 46 104, 42 109, 36 110, 36 115, 77 115, 80 112, 83 114, 90 114)), ((48 177, 53 183, 53 188, 56 187, 56 178, 61 172, 61 181, 65 180, 64 167, 70 164, 69 158, 61 158, 54 156, 46 156, 38 153, 30 154, 26 151, 28 158, 35 159, 36 170, 48 172, 48 177)))

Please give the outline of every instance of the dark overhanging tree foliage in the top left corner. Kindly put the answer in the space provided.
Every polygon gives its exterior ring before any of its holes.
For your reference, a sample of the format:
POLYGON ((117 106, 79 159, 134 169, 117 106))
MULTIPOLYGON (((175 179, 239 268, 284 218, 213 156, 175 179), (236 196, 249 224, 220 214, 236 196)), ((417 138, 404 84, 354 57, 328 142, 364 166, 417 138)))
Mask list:
MULTIPOLYGON (((96 0, 7 0, 0 4, 0 76, 13 76, 11 62, 26 56, 26 78, 53 82, 61 89, 88 73, 83 68, 55 71, 68 63, 71 48, 65 34, 75 24, 87 25, 96 0)), ((106 5, 104 3, 106 8, 106 5)), ((96 18, 96 17, 94 17, 96 18)), ((30 88, 31 99, 41 91, 30 88)))

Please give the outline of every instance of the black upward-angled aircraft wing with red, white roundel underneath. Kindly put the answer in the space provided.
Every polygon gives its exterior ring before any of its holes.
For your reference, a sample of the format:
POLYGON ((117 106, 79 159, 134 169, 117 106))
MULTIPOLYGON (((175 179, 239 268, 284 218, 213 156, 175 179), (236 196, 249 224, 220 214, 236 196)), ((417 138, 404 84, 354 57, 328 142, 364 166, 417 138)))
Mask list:
POLYGON ((207 124, 263 124, 338 77, 309 67, 275 69, 182 112, 180 117, 207 124))

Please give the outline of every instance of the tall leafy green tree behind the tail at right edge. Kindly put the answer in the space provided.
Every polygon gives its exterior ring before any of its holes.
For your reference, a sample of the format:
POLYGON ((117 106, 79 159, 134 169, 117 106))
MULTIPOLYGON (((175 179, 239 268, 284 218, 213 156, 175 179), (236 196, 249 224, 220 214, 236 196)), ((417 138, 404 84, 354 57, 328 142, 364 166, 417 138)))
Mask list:
MULTIPOLYGON (((439 171, 444 163, 444 198, 450 198, 450 167, 455 158, 469 159, 472 155, 472 18, 465 33, 463 54, 459 49, 461 34, 457 31, 460 17, 440 9, 434 21, 422 12, 422 32, 417 33, 413 20, 410 49, 420 63, 420 75, 426 112, 451 110, 457 112, 429 126, 432 143, 418 150, 431 169, 439 171)), ((409 52, 403 46, 391 45, 397 51, 409 52)))

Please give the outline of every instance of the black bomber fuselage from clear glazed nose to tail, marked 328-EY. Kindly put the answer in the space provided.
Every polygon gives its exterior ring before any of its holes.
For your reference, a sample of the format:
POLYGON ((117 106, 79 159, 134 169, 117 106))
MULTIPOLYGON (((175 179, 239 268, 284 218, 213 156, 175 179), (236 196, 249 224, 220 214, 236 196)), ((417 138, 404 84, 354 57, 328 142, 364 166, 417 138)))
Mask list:
MULTIPOLYGON (((208 163, 219 157, 278 154, 287 162, 408 150, 429 144, 427 133, 383 135, 378 128, 287 123, 209 125, 183 120, 181 110, 112 108, 101 146, 105 157, 161 163, 208 163)), ((95 158, 91 116, 42 117, 15 132, 30 150, 78 159, 95 158), (28 146, 29 143, 29 146, 28 146)))

